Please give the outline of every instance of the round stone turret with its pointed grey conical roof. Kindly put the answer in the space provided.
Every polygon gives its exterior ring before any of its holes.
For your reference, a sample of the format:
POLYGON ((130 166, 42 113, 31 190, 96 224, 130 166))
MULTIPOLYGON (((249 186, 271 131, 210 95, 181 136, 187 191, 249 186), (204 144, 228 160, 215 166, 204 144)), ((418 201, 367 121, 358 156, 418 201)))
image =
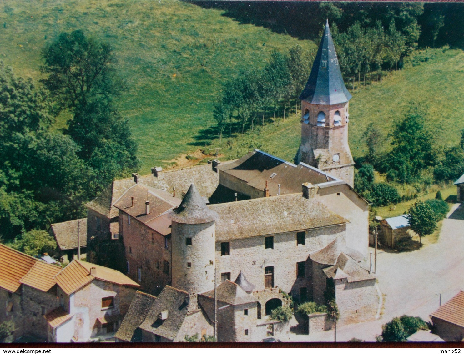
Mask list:
POLYGON ((172 220, 172 286, 190 294, 214 288, 215 222, 192 184, 172 220))

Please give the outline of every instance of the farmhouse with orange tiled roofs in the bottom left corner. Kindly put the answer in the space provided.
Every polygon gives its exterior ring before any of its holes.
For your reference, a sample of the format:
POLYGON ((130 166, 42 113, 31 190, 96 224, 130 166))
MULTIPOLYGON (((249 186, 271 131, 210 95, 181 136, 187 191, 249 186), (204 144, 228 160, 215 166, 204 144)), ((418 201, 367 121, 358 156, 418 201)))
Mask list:
POLYGON ((0 322, 13 322, 12 339, 113 337, 137 288, 117 270, 79 260, 62 269, 0 244, 0 322))

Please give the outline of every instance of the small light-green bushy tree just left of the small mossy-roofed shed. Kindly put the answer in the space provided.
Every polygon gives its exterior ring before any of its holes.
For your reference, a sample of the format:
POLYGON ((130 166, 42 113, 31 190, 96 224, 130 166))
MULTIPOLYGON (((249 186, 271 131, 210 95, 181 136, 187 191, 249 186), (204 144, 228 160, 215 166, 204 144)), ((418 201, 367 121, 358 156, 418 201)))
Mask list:
POLYGON ((57 249, 55 239, 46 231, 31 230, 25 232, 13 243, 15 250, 24 252, 29 256, 42 255, 43 253, 54 253, 57 249))

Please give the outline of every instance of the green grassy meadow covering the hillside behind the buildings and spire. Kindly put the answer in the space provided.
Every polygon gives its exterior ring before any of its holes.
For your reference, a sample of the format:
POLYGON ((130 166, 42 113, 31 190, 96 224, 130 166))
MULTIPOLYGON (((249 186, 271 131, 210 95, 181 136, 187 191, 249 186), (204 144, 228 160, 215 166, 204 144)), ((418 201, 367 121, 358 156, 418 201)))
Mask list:
MULTIPOLYGON (((262 68, 273 50, 287 53, 296 44, 315 44, 269 29, 239 24, 222 10, 179 1, 0 1, 0 59, 19 76, 39 80, 41 49, 60 32, 83 29, 109 42, 129 90, 118 99, 139 144, 142 174, 171 165, 180 154, 220 148, 221 159, 253 147, 292 160, 300 140, 293 107, 285 121, 245 133, 213 129, 213 103, 222 84, 248 68, 262 68), (2 25, 3 24, 3 25, 2 25)), ((428 106, 428 125, 438 145, 456 144, 464 128, 464 54, 435 50, 418 66, 387 75, 382 84, 356 88, 350 101, 352 154, 365 154, 362 134, 373 122, 385 135, 409 102, 428 106)), ((362 82, 361 82, 362 86, 362 82)), ((351 85, 348 85, 351 90, 351 85)), ((66 114, 56 126, 65 126, 66 114)))

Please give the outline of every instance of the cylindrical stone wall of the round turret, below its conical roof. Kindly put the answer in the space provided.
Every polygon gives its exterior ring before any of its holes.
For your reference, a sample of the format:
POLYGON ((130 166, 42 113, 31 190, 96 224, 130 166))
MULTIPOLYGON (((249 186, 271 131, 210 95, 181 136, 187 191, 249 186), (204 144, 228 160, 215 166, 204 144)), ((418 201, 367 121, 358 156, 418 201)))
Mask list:
POLYGON ((172 286, 188 293, 214 288, 215 222, 172 222, 172 286), (187 245, 192 238, 192 245, 187 245), (188 267, 190 263, 190 267, 188 267))

